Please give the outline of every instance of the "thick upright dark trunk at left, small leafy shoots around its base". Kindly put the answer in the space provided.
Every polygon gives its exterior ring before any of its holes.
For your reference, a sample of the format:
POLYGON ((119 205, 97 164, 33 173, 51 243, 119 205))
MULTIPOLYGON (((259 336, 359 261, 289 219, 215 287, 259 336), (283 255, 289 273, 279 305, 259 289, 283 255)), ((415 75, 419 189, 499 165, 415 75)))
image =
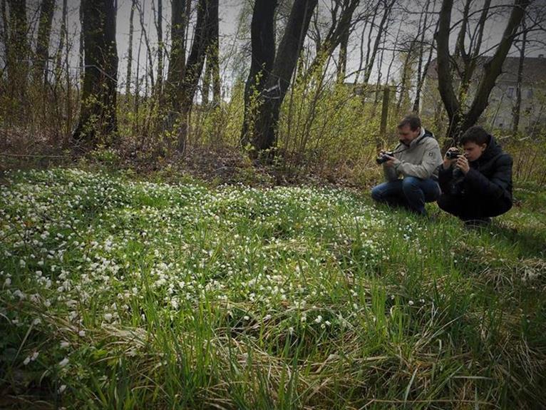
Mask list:
POLYGON ((115 116, 118 51, 115 43, 115 0, 82 0, 85 77, 78 126, 73 133, 76 153, 110 144, 117 130, 115 116))

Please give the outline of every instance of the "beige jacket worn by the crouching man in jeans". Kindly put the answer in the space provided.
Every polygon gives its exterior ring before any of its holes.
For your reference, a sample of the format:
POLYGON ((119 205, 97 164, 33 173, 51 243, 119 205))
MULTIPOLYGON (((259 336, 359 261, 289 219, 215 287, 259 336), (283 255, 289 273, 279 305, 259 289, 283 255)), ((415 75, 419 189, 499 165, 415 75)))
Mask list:
POLYGON ((393 152, 396 158, 394 166, 383 164, 386 180, 396 180, 400 175, 421 179, 438 178, 438 165, 443 163, 440 146, 433 133, 425 128, 421 127, 421 135, 411 141, 409 147, 399 143, 393 152))

